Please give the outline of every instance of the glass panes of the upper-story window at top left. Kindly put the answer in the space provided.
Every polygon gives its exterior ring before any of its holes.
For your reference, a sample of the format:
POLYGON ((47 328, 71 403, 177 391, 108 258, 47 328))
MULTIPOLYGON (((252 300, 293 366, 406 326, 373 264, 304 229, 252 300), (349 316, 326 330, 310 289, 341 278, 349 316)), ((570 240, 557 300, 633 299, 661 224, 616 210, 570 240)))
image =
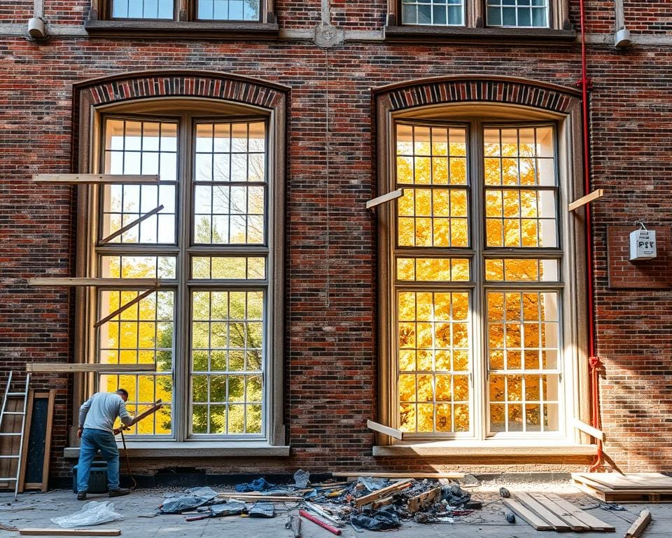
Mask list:
POLYGON ((182 20, 180 11, 189 20, 259 21, 261 5, 260 0, 111 0, 110 5, 113 19, 182 20))

